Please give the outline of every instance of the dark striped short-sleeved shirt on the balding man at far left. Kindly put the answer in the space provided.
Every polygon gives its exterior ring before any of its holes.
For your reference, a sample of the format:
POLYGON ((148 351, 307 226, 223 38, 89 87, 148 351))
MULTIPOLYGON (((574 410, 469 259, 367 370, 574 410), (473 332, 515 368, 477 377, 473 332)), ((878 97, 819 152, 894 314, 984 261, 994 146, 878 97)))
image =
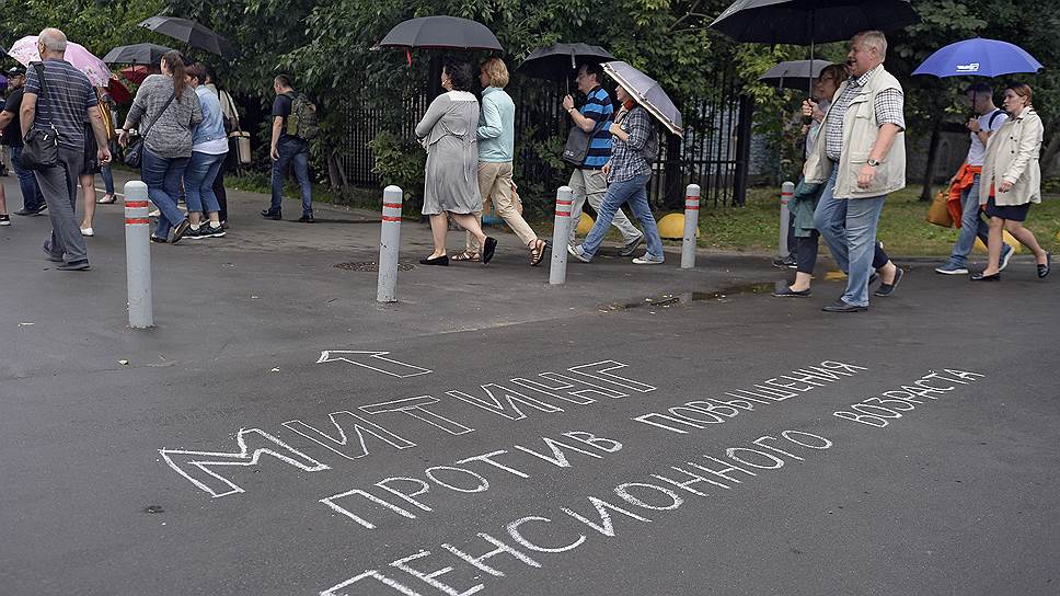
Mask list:
POLYGON ((48 87, 47 98, 42 96, 37 67, 30 65, 25 92, 37 96, 33 128, 55 126, 60 146, 83 151, 88 110, 100 103, 92 83, 70 62, 57 59, 44 61, 44 81, 48 87))

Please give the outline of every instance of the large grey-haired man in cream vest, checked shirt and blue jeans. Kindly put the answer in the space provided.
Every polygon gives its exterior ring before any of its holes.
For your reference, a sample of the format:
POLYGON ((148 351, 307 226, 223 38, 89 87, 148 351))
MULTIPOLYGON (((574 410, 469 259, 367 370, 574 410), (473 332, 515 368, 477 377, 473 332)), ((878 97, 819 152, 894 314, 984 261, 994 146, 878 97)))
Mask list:
MULTIPOLYGON (((851 78, 825 116, 825 142, 806 161, 808 182, 825 183, 814 224, 832 259, 846 271, 846 290, 827 312, 868 309, 876 227, 887 194, 906 186, 906 119, 901 84, 884 69, 887 38, 864 31, 851 39, 851 78)), ((889 295, 903 272, 888 264, 877 295, 889 295), (880 294, 880 293, 884 294, 880 294)))

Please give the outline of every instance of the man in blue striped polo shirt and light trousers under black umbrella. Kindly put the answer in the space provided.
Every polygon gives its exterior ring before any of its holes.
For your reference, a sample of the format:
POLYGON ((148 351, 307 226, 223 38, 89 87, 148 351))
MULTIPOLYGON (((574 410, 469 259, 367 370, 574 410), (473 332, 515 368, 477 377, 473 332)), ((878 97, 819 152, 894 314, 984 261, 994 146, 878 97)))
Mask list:
MULTIPOLYGON (((575 126, 592 134, 585 160, 574 169, 568 183, 574 192, 574 204, 571 206, 568 250, 575 245, 578 220, 581 218, 581 208, 585 202, 588 200, 589 205, 592 205, 592 208, 599 213, 600 205, 603 203, 603 194, 608 191, 608 182, 602 169, 603 164, 611 159, 611 133, 608 130, 608 125, 614 115, 614 106, 611 105, 611 96, 600 87, 602 76, 603 68, 600 65, 583 65, 578 69, 576 81, 578 91, 585 94, 585 105, 580 110, 575 110, 574 98, 571 95, 563 98, 563 108, 567 111, 575 126)), ((633 227, 630 218, 625 216, 621 208, 614 213, 611 225, 622 233, 623 247, 620 254, 630 256, 644 241, 644 236, 633 227)))

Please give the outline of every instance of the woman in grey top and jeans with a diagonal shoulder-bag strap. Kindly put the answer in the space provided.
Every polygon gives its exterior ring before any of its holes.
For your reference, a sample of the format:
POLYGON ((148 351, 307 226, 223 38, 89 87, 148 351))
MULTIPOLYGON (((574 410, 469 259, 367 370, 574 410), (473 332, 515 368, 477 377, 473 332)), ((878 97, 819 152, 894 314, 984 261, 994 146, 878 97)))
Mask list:
POLYGON ((159 208, 153 242, 178 242, 189 222, 176 206, 181 179, 192 157, 192 127, 203 121, 198 96, 188 85, 184 60, 178 51, 166 51, 160 62, 162 73, 151 74, 140 84, 118 135, 118 142, 129 142, 129 128, 140 126, 143 136, 143 160, 140 176, 148 196, 159 208), (172 239, 170 238, 172 232, 172 239))

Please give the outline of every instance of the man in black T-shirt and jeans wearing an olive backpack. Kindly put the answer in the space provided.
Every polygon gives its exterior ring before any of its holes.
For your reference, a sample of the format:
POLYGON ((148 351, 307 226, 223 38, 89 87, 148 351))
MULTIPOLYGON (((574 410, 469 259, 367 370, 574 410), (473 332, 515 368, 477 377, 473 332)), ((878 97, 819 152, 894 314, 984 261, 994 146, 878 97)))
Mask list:
MULTIPOLYGON (((278 74, 273 79, 273 91, 276 100, 273 102, 273 140, 269 156, 273 158, 273 200, 267 209, 262 211, 265 219, 283 219, 284 179, 287 165, 295 169, 295 177, 302 192, 302 224, 313 222, 313 187, 309 182, 309 139, 298 135, 299 113, 296 103, 299 93, 291 85, 291 78, 278 74)), ((315 123, 314 123, 315 124, 315 123)))

